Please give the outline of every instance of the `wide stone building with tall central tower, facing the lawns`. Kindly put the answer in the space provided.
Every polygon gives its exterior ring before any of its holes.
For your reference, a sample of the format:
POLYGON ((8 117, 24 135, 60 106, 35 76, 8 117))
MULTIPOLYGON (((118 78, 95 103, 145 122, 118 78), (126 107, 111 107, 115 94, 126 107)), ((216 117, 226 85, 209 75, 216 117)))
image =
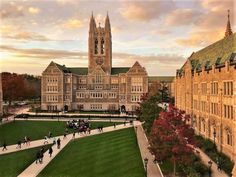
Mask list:
POLYGON ((90 19, 88 59, 88 68, 49 64, 42 74, 41 109, 135 111, 148 91, 148 75, 138 62, 112 67, 108 16, 104 28, 97 27, 93 15, 90 19))

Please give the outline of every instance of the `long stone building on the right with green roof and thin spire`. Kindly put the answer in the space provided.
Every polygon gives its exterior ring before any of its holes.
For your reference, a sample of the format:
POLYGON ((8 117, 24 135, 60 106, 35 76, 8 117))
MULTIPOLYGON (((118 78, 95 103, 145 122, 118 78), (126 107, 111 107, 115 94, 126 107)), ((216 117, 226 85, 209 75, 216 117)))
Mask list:
POLYGON ((198 134, 236 160, 236 34, 194 52, 177 70, 175 104, 198 134))

